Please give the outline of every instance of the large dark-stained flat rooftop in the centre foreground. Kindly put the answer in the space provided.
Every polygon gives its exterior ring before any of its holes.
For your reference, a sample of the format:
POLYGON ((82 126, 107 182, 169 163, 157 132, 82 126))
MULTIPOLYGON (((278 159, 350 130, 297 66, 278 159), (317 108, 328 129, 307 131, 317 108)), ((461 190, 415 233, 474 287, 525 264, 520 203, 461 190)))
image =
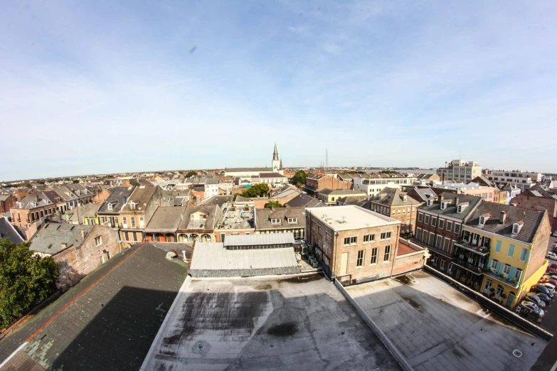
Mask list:
POLYGON ((319 274, 188 279, 141 370, 225 369, 401 370, 319 274))

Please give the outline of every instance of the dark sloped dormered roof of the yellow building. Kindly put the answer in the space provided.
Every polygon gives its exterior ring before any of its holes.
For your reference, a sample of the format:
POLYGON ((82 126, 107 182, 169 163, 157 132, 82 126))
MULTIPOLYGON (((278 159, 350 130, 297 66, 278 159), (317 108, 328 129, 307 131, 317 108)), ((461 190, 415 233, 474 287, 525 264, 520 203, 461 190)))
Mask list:
POLYGON ((499 203, 482 203, 482 205, 479 205, 477 210, 470 215, 470 219, 466 225, 496 235, 509 237, 514 240, 531 243, 543 219, 543 213, 547 212, 516 208, 511 205, 500 205, 499 203), (503 224, 499 223, 499 217, 502 211, 506 212, 506 218, 503 224), (479 217, 486 214, 490 215, 489 219, 483 226, 479 225, 479 217), (514 223, 520 221, 524 221, 524 225, 518 235, 513 235, 512 227, 514 223))

